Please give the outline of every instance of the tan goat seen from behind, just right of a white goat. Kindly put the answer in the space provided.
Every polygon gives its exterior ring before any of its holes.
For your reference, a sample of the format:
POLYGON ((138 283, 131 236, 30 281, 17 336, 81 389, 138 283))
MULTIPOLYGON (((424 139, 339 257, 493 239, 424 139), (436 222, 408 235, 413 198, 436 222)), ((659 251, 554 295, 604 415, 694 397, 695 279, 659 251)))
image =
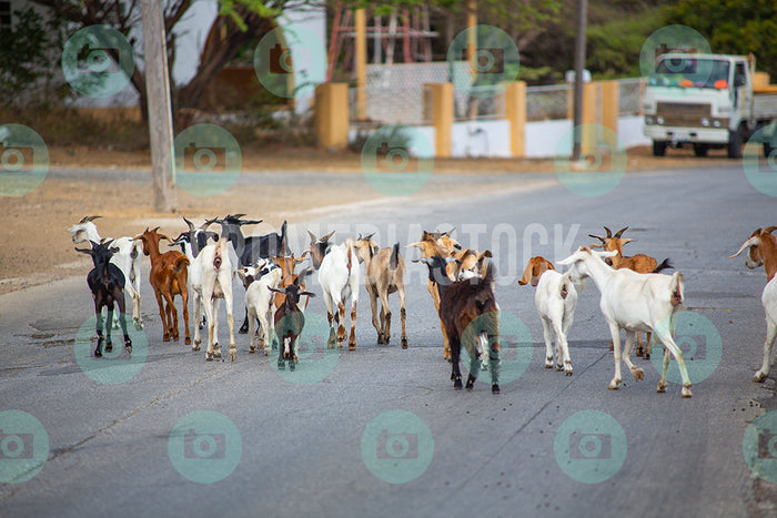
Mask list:
POLYGON ((379 250, 372 241, 373 234, 356 240, 356 255, 366 265, 365 287, 370 294, 372 307, 372 325, 377 332, 377 343, 389 344, 391 341, 391 308, 389 295, 400 294, 400 319, 402 322, 402 348, 407 348, 407 332, 405 331, 405 261, 400 254, 400 243, 392 248, 379 250), (381 322, 377 321, 377 298, 381 299, 381 322))

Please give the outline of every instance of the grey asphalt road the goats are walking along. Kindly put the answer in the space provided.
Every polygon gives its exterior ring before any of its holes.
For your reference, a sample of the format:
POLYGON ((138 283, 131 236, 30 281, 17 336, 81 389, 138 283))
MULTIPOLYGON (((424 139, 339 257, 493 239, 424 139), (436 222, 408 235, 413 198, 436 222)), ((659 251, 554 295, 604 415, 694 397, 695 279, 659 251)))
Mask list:
MULTIPOLYGON (((163 344, 148 282, 145 329, 133 335, 135 358, 143 337, 148 355, 118 369, 75 360, 91 304, 82 278, 0 297, 0 409, 34 416, 49 440, 42 469, 28 463, 28 476, 40 473, 0 485, 0 515, 748 516, 774 506, 774 486, 743 456, 748 424, 775 407, 774 382, 750 382, 765 336, 765 275, 727 256, 775 223, 775 200, 737 167, 627 174, 599 197, 546 180, 516 177, 474 199, 361 203, 294 228, 296 251, 306 228, 336 230, 335 241, 379 231, 389 245, 448 225, 465 245, 493 250, 512 333, 498 396, 483 382, 453 390, 424 272, 412 263, 408 349, 398 347, 395 299, 392 344, 375 345, 362 288, 357 351, 320 351, 324 306, 313 299, 314 353, 294 374, 250 355, 244 335, 234 364, 163 344), (613 360, 591 282, 571 331, 574 375, 543 367, 534 290, 516 280, 529 256, 563 258, 603 224, 630 225, 633 252, 669 256, 684 273, 692 334, 706 336, 696 336, 706 352, 689 364, 712 365, 692 399, 677 384, 656 394, 658 373, 644 359, 644 382, 607 390, 613 360)), ((21 457, 43 451, 38 441, 27 447, 21 457)))

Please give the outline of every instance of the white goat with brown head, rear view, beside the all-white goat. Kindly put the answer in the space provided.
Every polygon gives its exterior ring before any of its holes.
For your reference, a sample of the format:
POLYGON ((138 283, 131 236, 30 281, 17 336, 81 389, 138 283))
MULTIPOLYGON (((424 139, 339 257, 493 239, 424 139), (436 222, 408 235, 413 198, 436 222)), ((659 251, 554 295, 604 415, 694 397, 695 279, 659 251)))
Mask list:
POLYGON ((553 368, 553 335, 556 336, 556 370, 564 370, 572 376, 572 357, 567 334, 575 318, 577 306, 577 290, 572 281, 571 272, 556 272, 545 257, 535 256, 528 260, 526 270, 518 284, 532 284, 537 291, 534 294, 534 305, 543 322, 545 337, 545 368, 553 368))

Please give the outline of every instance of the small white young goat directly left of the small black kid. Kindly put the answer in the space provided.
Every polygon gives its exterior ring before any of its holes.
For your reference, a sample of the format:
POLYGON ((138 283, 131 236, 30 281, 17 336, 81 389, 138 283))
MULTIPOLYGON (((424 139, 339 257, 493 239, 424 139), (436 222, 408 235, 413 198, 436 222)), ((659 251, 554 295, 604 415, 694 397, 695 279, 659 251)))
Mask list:
POLYGON ((249 312, 249 336, 251 336, 249 351, 251 353, 256 351, 256 319, 259 319, 259 345, 263 346, 264 356, 268 356, 275 341, 272 313, 274 293, 270 288, 278 287, 283 273, 275 264, 261 258, 255 267, 241 268, 238 271, 238 275, 245 285, 245 307, 249 312))

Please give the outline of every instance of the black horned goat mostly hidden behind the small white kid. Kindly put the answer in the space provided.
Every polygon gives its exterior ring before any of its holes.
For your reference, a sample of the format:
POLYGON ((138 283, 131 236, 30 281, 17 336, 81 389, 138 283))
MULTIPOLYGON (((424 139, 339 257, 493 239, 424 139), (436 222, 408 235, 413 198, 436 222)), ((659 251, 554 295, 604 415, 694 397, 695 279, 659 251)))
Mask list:
MULTIPOLYGON (((281 234, 271 232, 265 235, 243 236, 240 230, 243 225, 258 225, 262 220, 241 220, 245 214, 230 214, 223 220, 215 222, 221 225, 221 236, 226 237, 232 242, 240 266, 250 267, 256 264, 260 258, 271 258, 275 256, 291 255, 291 250, 286 243, 286 222, 281 225, 281 234)), ((249 313, 245 312, 243 324, 240 326, 239 333, 245 334, 249 332, 249 313)))

